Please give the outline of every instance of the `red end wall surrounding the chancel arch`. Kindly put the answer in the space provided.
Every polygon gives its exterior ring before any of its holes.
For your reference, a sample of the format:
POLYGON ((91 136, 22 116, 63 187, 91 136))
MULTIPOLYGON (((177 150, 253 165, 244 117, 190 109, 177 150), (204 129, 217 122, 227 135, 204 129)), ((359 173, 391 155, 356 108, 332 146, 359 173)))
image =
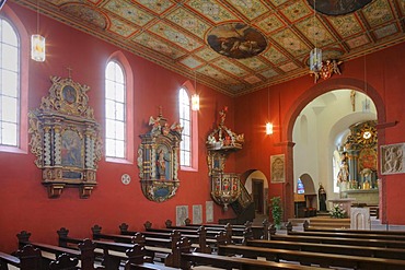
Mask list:
MULTIPOLYGON (((292 208, 292 126, 303 107, 316 96, 337 89, 364 92, 374 102, 379 124, 398 121, 395 127, 379 129, 379 144, 402 143, 405 138, 404 78, 405 43, 345 62, 342 75, 313 83, 305 75, 286 83, 235 98, 235 129, 245 133, 246 143, 236 160, 236 167, 245 171, 257 168, 269 179, 269 160, 274 154, 286 154, 286 184, 269 184, 269 198, 281 196, 286 216, 291 218, 292 208), (366 64, 366 69, 364 69, 366 64), (366 70, 366 72, 364 72, 366 70), (366 75, 364 75, 366 73, 366 75), (366 80, 364 80, 366 78, 366 80), (367 82, 367 86, 366 83, 367 82), (269 107, 269 109, 268 109, 269 107), (273 136, 265 134, 265 122, 270 118, 275 125, 273 136)), ((308 153, 302 153, 308 154, 308 153)), ((380 216, 384 223, 405 224, 404 174, 379 176, 382 179, 380 216)))

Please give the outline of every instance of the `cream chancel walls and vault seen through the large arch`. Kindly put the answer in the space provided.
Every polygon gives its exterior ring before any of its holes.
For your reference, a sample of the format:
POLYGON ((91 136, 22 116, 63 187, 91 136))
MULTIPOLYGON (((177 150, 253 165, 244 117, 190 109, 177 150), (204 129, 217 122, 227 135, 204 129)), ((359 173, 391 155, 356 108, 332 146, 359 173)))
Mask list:
MULTIPOLYGON (((343 153, 348 151, 345 150, 345 145, 350 133, 349 127, 373 120, 377 120, 375 106, 370 97, 361 92, 334 90, 310 102, 297 117, 292 131, 296 144, 294 185, 297 186, 299 176, 308 173, 313 177, 316 190, 321 185, 324 187, 328 199, 343 198, 337 187, 337 173, 343 153)), ((355 167, 355 163, 349 165, 350 172, 355 175, 359 166, 355 167)), ((375 167, 373 169, 375 172, 375 167)), ((317 195, 317 191, 314 193, 317 195)), ((374 203, 373 200, 372 204, 374 203)), ((314 200, 311 207, 317 208, 317 200, 314 200)))

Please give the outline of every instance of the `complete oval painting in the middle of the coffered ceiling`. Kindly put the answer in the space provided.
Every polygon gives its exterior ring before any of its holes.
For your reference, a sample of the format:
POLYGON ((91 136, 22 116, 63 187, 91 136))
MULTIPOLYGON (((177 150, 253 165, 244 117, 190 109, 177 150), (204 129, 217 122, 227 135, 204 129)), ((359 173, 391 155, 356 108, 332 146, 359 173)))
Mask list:
POLYGON ((218 54, 236 59, 257 56, 267 47, 264 35, 243 23, 228 23, 213 27, 208 33, 207 42, 218 54))

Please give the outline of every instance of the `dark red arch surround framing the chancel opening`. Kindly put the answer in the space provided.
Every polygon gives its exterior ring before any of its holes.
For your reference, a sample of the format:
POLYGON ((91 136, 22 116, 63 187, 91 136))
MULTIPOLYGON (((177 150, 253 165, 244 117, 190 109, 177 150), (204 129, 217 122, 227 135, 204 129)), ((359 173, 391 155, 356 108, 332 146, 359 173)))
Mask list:
MULTIPOLYGON (((371 85, 367 84, 364 81, 357 80, 357 79, 347 79, 347 78, 338 78, 338 79, 329 79, 323 83, 315 84, 309 91, 305 91, 299 98, 294 101, 292 106, 286 114, 286 117, 282 121, 281 127, 281 141, 284 142, 281 146, 284 148, 284 153, 286 153, 286 166, 291 169, 287 169, 286 172, 286 185, 284 189, 285 196, 285 210, 286 215, 285 218, 292 218, 293 216, 293 187, 294 187, 294 141, 293 141, 293 128, 297 121, 297 118, 300 116, 302 109, 314 98, 317 96, 327 93, 329 91, 335 91, 339 89, 348 89, 355 90, 361 93, 367 94, 370 99, 375 105, 375 111, 378 115, 378 122, 385 122, 385 110, 384 110, 384 103, 382 97, 373 89, 371 85), (366 93, 367 90, 367 93, 366 93)), ((385 143, 385 131, 384 129, 379 130, 379 145, 385 143)), ((316 153, 314 153, 316 154, 316 153)), ((385 181, 384 177, 379 175, 381 179, 380 186, 380 216, 382 222, 385 221, 384 209, 386 207, 385 203, 385 181)))

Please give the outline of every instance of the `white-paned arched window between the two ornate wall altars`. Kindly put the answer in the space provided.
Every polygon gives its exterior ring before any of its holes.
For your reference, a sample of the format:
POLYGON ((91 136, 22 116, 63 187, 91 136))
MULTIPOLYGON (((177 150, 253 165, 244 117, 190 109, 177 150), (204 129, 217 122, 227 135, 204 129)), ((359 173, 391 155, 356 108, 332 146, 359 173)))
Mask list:
POLYGON ((126 79, 117 61, 109 61, 105 69, 105 155, 126 159, 126 79))

